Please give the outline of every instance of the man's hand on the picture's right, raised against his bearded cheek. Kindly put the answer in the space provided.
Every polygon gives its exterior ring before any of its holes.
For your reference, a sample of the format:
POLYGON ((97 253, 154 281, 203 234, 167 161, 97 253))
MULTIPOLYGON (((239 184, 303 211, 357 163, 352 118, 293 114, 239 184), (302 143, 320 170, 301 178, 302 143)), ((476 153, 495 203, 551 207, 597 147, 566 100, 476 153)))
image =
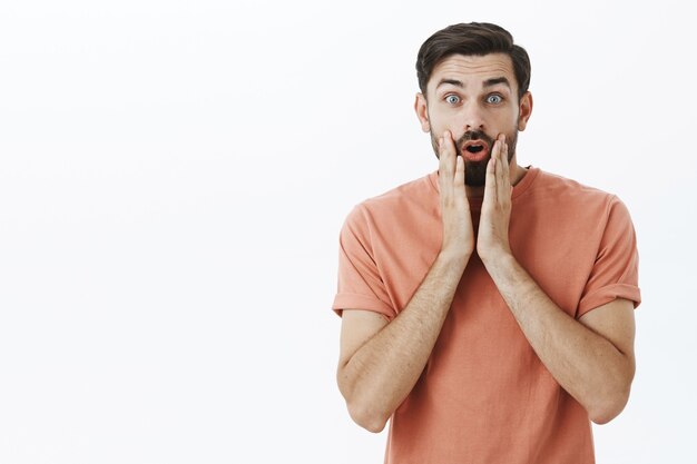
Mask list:
POLYGON ((500 135, 493 144, 491 159, 487 165, 487 185, 479 220, 477 253, 484 265, 488 260, 511 254, 508 227, 511 218, 511 194, 508 145, 500 135))

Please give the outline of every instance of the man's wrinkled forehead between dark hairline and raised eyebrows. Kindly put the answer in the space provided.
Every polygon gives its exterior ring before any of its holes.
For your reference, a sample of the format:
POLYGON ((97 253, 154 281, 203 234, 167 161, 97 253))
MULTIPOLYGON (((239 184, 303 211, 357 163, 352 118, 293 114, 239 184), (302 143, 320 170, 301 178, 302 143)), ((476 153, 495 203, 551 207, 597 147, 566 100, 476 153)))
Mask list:
POLYGON ((435 65, 426 87, 431 91, 442 79, 455 79, 471 85, 481 85, 487 79, 499 77, 505 77, 511 86, 516 85, 513 62, 511 57, 505 53, 451 55, 435 65))

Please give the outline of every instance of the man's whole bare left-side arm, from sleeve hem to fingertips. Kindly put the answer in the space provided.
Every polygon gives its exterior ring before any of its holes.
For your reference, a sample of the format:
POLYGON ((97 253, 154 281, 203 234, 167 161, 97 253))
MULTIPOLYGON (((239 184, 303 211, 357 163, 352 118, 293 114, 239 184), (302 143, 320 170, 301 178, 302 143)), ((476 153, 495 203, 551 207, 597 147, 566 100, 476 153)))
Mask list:
POLYGON ((457 155, 450 132, 439 150, 441 253, 406 307, 390 323, 359 307, 343 312, 336 379, 351 416, 371 432, 383 430, 422 375, 474 251, 464 160, 457 155))

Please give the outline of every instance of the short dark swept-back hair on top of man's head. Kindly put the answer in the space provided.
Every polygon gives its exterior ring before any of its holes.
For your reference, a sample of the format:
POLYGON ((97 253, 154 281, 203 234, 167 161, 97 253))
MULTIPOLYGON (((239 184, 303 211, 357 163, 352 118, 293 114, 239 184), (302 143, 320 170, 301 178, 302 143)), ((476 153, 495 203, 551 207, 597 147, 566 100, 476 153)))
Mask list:
POLYGON ((507 53, 513 61, 520 99, 530 86, 530 58, 524 48, 513 43, 513 36, 500 26, 489 22, 452 24, 429 37, 419 49, 416 77, 421 93, 426 97, 426 85, 433 68, 451 55, 507 53))

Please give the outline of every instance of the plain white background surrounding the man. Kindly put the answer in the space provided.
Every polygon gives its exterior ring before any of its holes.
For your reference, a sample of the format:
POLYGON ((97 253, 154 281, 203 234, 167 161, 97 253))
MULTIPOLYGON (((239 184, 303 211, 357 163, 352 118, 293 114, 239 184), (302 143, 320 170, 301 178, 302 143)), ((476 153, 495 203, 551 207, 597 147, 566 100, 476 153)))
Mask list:
POLYGON ((684 3, 3 1, 0 462, 382 462, 334 381, 338 230, 436 168, 415 56, 472 20, 531 56, 519 161, 637 229, 638 371, 598 462, 696 462, 684 3))

